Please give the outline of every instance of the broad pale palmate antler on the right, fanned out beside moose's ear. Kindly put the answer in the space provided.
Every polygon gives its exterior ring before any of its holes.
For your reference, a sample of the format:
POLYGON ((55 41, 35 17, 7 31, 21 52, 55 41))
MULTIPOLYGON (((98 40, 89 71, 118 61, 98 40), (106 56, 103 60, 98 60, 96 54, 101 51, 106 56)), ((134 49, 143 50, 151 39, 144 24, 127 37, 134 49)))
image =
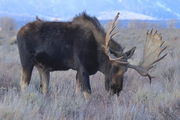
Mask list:
POLYGON ((147 32, 146 42, 144 46, 143 60, 138 66, 128 64, 129 68, 135 69, 142 76, 147 76, 150 79, 148 71, 153 68, 154 64, 162 60, 166 55, 161 56, 162 52, 167 48, 164 46, 162 40, 162 35, 157 31, 153 32, 153 29, 150 32, 147 32))

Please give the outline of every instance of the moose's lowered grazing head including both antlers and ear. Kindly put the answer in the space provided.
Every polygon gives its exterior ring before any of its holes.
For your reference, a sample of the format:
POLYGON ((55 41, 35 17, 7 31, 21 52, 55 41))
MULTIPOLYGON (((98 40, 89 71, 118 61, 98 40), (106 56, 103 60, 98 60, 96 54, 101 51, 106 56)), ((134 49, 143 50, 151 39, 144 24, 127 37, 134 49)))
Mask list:
MULTIPOLYGON (((112 21, 105 37, 104 51, 108 56, 108 63, 106 67, 105 74, 105 88, 110 91, 111 94, 119 95, 123 87, 124 73, 128 68, 136 70, 140 75, 148 77, 151 83, 152 76, 149 74, 149 70, 153 68, 154 64, 162 60, 167 54, 161 55, 161 53, 166 49, 164 46, 164 41, 162 40, 162 35, 157 31, 151 30, 147 32, 146 42, 144 46, 143 59, 139 65, 132 65, 128 62, 128 59, 134 54, 136 47, 133 47, 127 52, 123 52, 118 58, 111 58, 109 56, 109 41, 117 33, 113 33, 116 28, 119 13, 116 15, 115 19, 112 21)), ((116 52, 116 51, 111 51, 116 52)), ((118 55, 118 53, 116 53, 118 55)))

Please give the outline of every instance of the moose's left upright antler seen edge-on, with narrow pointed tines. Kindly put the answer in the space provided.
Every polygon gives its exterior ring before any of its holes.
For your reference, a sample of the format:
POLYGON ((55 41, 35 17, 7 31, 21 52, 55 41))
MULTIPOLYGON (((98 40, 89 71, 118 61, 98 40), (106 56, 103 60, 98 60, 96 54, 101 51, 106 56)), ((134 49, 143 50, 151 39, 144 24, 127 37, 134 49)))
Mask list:
MULTIPOLYGON (((117 34, 118 32, 115 32, 115 33, 112 33, 113 30, 116 28, 117 26, 117 20, 119 18, 119 15, 120 13, 118 12, 117 15, 115 16, 114 20, 111 22, 110 24, 110 27, 109 29, 107 30, 107 33, 106 33, 106 37, 105 37, 105 45, 104 45, 104 48, 105 48, 105 53, 108 55, 109 53, 109 42, 110 40, 112 39, 112 37, 117 34)), ((119 57, 119 58, 116 58, 116 59, 113 59, 111 58, 109 55, 108 55, 109 59, 111 61, 115 61, 115 62, 118 62, 120 64, 128 64, 128 62, 125 62, 125 61, 121 61, 121 59, 123 58, 122 56, 119 57)))

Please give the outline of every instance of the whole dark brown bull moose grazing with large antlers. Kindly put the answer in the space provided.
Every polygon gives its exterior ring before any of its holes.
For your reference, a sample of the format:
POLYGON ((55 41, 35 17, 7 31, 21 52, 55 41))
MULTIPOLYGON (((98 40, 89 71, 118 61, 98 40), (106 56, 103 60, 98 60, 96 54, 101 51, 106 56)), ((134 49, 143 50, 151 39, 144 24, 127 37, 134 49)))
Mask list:
POLYGON ((29 85, 34 66, 40 74, 43 94, 48 92, 50 72, 56 70, 76 70, 76 90, 82 91, 86 99, 91 94, 89 76, 97 71, 105 75, 105 89, 117 95, 123 88, 123 76, 128 68, 151 80, 149 69, 166 56, 160 55, 166 48, 161 34, 153 30, 147 32, 143 60, 139 65, 132 65, 128 59, 135 47, 123 52, 121 45, 113 40, 118 16, 119 13, 107 32, 96 17, 86 13, 69 22, 37 19, 23 26, 17 35, 22 66, 21 89, 29 85), (110 53, 116 58, 111 58, 110 53))

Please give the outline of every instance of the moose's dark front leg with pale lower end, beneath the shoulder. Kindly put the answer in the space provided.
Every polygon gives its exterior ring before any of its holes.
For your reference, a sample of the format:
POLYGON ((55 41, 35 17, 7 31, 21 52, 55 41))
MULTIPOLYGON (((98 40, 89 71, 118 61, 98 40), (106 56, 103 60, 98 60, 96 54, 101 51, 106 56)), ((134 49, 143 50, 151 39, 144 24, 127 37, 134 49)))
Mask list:
POLYGON ((90 98, 91 86, 89 74, 81 67, 76 74, 76 90, 81 90, 86 100, 90 98))

